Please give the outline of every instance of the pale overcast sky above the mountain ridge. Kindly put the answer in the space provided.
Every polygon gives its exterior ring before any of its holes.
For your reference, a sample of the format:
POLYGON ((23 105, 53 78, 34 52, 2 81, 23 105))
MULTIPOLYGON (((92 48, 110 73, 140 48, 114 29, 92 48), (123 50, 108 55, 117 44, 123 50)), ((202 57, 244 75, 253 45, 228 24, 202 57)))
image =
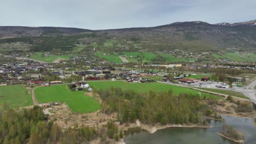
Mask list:
POLYGON ((255 0, 0 0, 0 26, 110 29, 255 19, 255 0))

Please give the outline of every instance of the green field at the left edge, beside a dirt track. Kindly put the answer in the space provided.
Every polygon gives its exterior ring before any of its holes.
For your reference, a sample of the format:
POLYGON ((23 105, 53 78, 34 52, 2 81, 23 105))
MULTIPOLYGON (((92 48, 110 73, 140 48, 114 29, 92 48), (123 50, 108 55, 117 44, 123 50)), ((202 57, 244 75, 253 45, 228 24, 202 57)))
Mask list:
POLYGON ((31 95, 24 85, 0 86, 0 109, 4 101, 7 101, 11 109, 33 105, 31 95))

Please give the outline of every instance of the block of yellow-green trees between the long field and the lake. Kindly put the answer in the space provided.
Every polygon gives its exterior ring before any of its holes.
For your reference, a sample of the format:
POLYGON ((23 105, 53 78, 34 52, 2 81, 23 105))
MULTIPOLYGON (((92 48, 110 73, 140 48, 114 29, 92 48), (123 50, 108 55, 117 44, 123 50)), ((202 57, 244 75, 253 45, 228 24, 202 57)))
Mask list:
POLYGON ((100 89, 102 112, 118 112, 120 123, 135 122, 153 124, 199 124, 201 110, 206 105, 200 103, 199 95, 173 94, 168 92, 153 92, 139 94, 132 90, 121 88, 100 89))

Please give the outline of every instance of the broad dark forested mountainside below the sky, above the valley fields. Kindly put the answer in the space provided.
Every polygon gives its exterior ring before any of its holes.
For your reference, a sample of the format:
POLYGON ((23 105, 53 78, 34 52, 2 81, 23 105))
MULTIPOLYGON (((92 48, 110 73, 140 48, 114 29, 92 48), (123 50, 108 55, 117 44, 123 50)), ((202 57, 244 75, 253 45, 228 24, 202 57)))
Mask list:
POLYGON ((72 51, 76 44, 101 51, 164 52, 174 49, 204 51, 250 51, 256 49, 256 25, 211 25, 176 22, 147 28, 92 31, 60 27, 0 27, 0 52, 72 51), (113 43, 108 45, 108 41, 113 43))

